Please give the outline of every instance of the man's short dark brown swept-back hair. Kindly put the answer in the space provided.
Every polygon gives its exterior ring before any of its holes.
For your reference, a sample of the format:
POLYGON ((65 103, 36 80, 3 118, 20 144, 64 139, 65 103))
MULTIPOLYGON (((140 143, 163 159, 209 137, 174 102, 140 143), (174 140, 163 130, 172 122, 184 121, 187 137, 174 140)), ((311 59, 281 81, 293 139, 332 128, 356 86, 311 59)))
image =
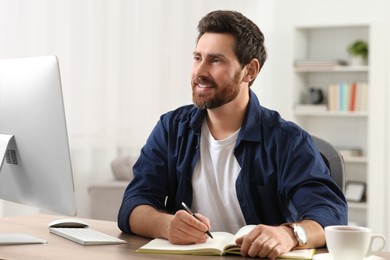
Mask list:
POLYGON ((198 24, 197 41, 205 33, 228 33, 236 39, 234 52, 241 66, 253 58, 258 59, 260 69, 267 59, 264 35, 251 20, 236 11, 213 11, 203 17, 198 24))

